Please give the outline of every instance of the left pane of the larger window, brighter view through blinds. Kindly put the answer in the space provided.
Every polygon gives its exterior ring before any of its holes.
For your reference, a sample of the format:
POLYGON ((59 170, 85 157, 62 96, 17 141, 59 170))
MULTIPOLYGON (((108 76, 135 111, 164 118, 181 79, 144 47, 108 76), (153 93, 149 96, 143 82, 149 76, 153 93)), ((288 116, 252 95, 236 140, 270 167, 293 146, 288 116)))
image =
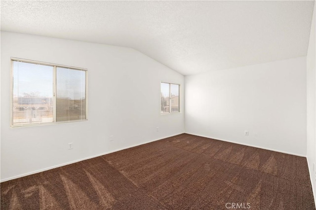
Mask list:
POLYGON ((53 122, 53 67, 13 61, 12 125, 53 122))

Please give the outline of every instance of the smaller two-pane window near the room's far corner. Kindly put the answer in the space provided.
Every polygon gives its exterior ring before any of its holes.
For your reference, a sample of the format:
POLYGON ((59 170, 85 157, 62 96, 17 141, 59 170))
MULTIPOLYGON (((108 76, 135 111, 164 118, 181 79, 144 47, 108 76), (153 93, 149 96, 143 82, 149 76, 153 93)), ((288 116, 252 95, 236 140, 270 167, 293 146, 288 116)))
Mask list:
POLYGON ((180 85, 161 82, 161 113, 180 112, 180 85))

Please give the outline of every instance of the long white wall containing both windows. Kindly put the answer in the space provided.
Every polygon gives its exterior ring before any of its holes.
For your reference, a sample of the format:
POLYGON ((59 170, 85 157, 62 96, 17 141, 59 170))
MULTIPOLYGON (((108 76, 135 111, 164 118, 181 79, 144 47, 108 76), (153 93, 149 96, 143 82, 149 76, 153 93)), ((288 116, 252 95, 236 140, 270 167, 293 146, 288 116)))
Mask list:
POLYGON ((1 180, 184 133, 183 113, 160 114, 161 81, 183 92, 181 74, 130 48, 1 32, 1 180), (10 57, 88 69, 89 120, 10 128, 10 57))

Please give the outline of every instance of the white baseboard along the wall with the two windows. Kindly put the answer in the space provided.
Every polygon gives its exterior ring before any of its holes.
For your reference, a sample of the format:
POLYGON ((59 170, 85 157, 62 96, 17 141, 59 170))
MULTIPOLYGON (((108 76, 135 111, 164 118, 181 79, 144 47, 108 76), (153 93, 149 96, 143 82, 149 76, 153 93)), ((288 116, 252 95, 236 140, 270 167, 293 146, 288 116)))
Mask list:
POLYGON ((112 150, 112 151, 109 151, 109 152, 104 152, 104 153, 93 155, 93 156, 86 157, 86 158, 81 158, 81 159, 70 161, 70 162, 67 162, 67 163, 58 164, 58 165, 55 165, 55 166, 51 166, 51 167, 47 167, 47 168, 44 168, 44 169, 36 170, 36 171, 33 171, 33 172, 25 173, 25 174, 22 174, 22 175, 16 175, 16 176, 12 176, 12 177, 9 177, 9 178, 4 178, 4 179, 1 179, 0 182, 12 180, 12 179, 15 179, 15 178, 20 178, 20 177, 27 176, 27 175, 37 174, 37 173, 40 173, 40 172, 48 171, 50 169, 55 169, 55 168, 58 168, 58 167, 62 167, 62 166, 66 166, 66 165, 69 165, 69 164, 77 163, 77 162, 80 162, 80 161, 83 161, 83 160, 88 160, 88 159, 91 159, 91 158, 95 158, 95 157, 99 157, 99 156, 102 156, 102 155, 110 154, 110 153, 113 153, 113 152, 117 152, 117 151, 120 151, 120 150, 131 148, 131 147, 143 145, 143 144, 150 143, 150 142, 153 142, 153 141, 162 140, 162 139, 166 139, 166 138, 169 138, 169 137, 174 137, 174 136, 177 136, 177 135, 180 135, 180 134, 183 134, 183 133, 174 134, 174 135, 171 135, 171 136, 162 137, 162 138, 159 138, 159 139, 155 139, 155 140, 150 140, 150 141, 134 144, 134 145, 131 145, 131 146, 123 147, 123 148, 112 150))

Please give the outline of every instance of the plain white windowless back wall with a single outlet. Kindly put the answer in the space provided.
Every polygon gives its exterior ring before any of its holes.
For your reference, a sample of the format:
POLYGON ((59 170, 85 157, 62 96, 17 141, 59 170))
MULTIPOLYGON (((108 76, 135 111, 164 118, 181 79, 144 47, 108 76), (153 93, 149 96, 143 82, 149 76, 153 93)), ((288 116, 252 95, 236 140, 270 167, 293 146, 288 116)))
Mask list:
POLYGON ((187 133, 306 155, 306 57, 185 76, 185 93, 187 133))

